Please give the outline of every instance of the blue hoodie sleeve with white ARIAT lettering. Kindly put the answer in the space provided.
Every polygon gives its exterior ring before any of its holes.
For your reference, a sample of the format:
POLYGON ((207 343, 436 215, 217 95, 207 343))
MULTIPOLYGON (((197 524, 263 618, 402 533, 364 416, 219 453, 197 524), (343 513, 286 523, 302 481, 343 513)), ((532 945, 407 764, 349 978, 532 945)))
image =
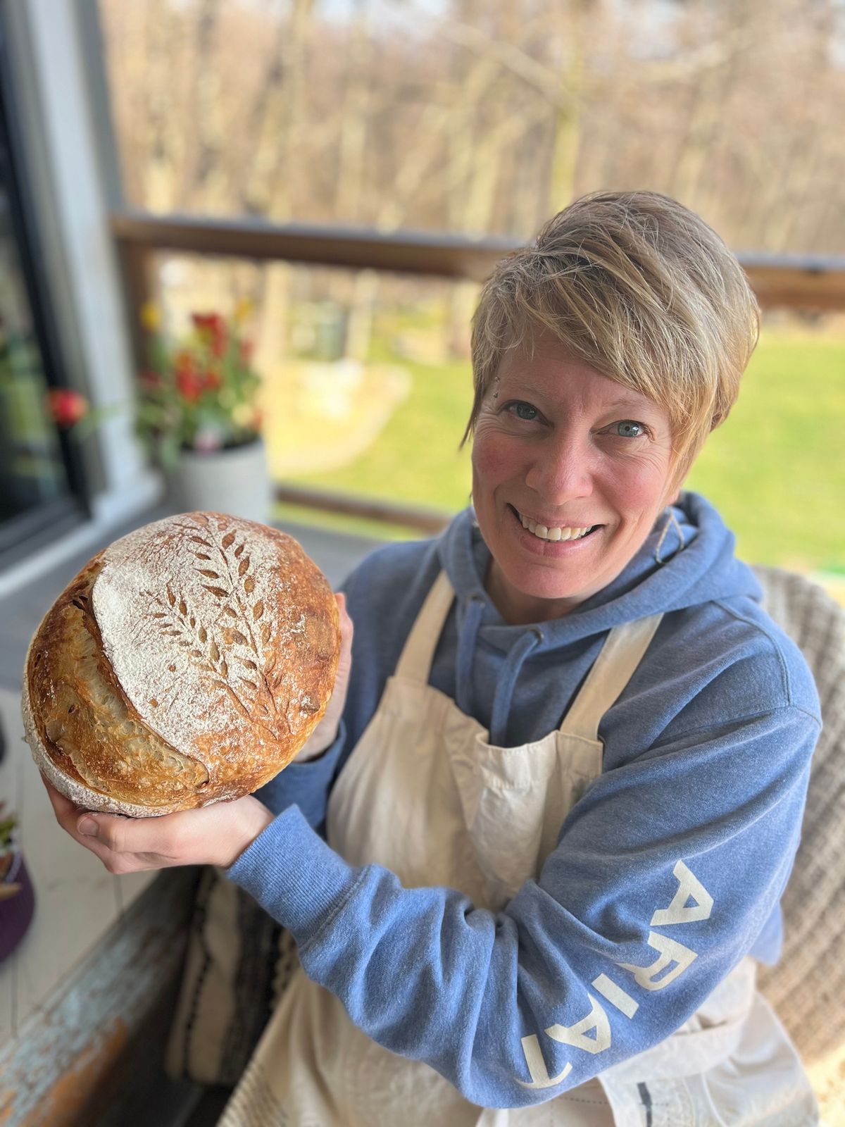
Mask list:
POLYGON ((669 1036, 748 952, 792 866, 817 734, 788 704, 656 743, 595 780, 499 913, 348 866, 296 807, 230 877, 374 1040, 473 1103, 536 1103, 669 1036))

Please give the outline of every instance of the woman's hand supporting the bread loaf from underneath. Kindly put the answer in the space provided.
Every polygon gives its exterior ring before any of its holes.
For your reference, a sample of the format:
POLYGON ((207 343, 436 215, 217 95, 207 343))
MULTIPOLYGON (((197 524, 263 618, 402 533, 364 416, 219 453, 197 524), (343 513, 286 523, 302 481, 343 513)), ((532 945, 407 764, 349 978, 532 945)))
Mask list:
POLYGON ((80 809, 42 775, 56 822, 103 861, 109 872, 139 872, 176 864, 228 869, 274 815, 252 795, 158 818, 125 818, 80 809))

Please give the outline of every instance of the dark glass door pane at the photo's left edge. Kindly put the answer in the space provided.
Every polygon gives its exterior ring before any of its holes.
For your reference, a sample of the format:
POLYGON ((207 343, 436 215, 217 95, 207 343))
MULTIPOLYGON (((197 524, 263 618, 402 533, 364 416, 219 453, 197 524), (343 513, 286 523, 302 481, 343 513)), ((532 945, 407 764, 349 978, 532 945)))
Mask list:
POLYGON ((16 232, 0 184, 0 524, 68 494, 16 232))

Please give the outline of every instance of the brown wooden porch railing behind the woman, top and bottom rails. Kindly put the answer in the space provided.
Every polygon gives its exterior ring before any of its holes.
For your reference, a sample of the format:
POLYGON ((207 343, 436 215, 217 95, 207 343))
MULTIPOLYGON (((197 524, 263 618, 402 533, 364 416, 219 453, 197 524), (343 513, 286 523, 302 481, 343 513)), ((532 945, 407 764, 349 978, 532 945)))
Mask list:
MULTIPOLYGON (((483 282, 500 258, 521 246, 517 240, 498 237, 470 239, 441 232, 382 232, 275 224, 247 218, 153 215, 131 210, 113 213, 112 230, 130 309, 140 309, 154 292, 150 257, 161 250, 483 282)), ((845 310, 845 258, 741 252, 738 258, 764 309, 845 310)), ((141 357, 141 328, 136 318, 132 320, 134 345, 141 357)), ((388 521, 424 532, 436 531, 447 518, 447 514, 415 506, 315 492, 290 485, 279 485, 276 496, 292 504, 388 521)))

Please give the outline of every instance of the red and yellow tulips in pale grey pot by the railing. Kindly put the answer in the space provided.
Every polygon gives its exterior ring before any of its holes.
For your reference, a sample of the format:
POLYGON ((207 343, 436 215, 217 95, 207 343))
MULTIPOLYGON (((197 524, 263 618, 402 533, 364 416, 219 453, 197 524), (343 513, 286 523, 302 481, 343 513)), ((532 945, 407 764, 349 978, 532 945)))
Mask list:
MULTIPOLYGON (((272 489, 261 438, 261 379, 241 320, 195 312, 188 330, 172 338, 161 331, 154 305, 142 309, 149 364, 139 378, 135 432, 163 471, 174 508, 266 522, 272 489)), ((88 410, 84 397, 65 388, 48 393, 48 408, 78 438, 114 411, 88 410)))

